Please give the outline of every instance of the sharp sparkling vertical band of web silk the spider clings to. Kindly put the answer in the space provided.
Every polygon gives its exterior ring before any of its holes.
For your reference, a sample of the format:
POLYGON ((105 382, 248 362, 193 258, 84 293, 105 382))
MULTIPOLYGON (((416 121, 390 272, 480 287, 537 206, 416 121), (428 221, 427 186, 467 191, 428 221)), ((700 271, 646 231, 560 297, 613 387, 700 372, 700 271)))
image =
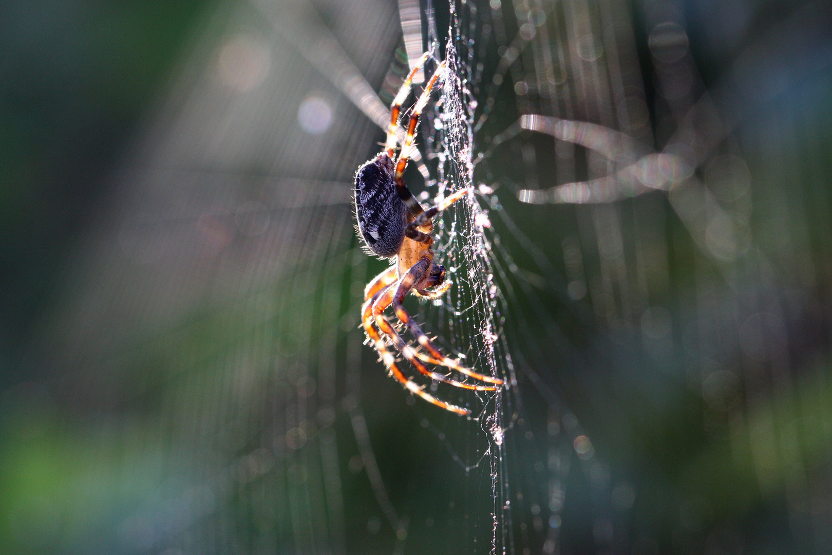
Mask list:
MULTIPOLYGON (((452 27, 448 30, 444 55, 448 62, 448 78, 434 113, 433 141, 428 141, 438 159, 438 196, 443 196, 446 188, 453 190, 473 184, 472 123, 477 104, 470 88, 475 83, 471 67, 474 44, 468 42, 467 32, 476 29, 477 19, 472 17, 470 11, 463 16, 467 19, 468 29, 452 8, 452 27)), ((435 40, 435 20, 430 16, 428 29, 435 40)), ((476 79, 479 77, 478 72, 476 79)), ((493 282, 489 260, 490 244, 484 234, 490 226, 487 213, 476 204, 455 211, 448 219, 453 219, 445 228, 450 233, 440 235, 440 241, 443 242, 443 252, 453 255, 457 266, 453 279, 458 282, 458 287, 453 293, 455 303, 453 319, 450 320, 456 326, 453 330, 455 347, 468 356, 469 364, 476 363, 483 371, 501 375, 510 388, 516 380, 513 379, 511 358, 502 333, 498 286, 493 282)), ((487 404, 483 410, 487 412, 480 414, 479 419, 490 444, 488 460, 493 497, 491 552, 506 553, 508 547, 513 552, 508 506, 510 489, 503 453, 506 428, 503 423, 503 394, 495 395, 493 405, 487 404)))

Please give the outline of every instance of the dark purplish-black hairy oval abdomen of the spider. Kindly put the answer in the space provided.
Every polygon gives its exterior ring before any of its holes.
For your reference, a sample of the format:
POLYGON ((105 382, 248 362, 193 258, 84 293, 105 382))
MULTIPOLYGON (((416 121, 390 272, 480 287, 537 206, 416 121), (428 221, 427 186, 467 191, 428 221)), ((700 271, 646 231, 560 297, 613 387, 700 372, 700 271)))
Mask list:
POLYGON ((355 216, 374 254, 394 256, 404 241, 407 207, 396 191, 393 161, 385 153, 355 172, 355 216))

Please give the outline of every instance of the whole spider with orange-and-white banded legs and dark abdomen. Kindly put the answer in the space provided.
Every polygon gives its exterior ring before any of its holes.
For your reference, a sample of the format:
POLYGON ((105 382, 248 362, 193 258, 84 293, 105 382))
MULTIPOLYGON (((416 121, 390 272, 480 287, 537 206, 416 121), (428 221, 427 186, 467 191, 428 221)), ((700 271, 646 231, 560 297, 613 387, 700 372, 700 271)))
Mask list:
POLYGON ((384 150, 372 160, 364 163, 355 173, 355 214, 358 219, 359 235, 370 251, 382 258, 394 260, 394 264, 369 282, 364 289, 364 305, 361 309, 361 320, 369 339, 379 352, 389 374, 428 403, 435 404, 456 414, 468 416, 471 412, 456 405, 437 399, 423 390, 424 386, 416 384, 407 378, 396 364, 396 357, 387 349, 387 343, 375 329, 377 325, 393 344, 394 348, 405 359, 413 364, 420 374, 444 384, 458 388, 473 389, 474 391, 495 391, 503 385, 502 379, 492 378, 464 368, 457 360, 448 359, 437 349, 428 336, 419 328, 418 324, 404 310, 402 302, 409 292, 426 299, 437 299, 450 287, 445 281, 445 269, 433 262, 433 216, 451 206, 454 202, 468 195, 473 189, 468 187, 453 193, 437 206, 424 210, 408 187, 404 184, 402 175, 408 164, 410 152, 413 149, 414 133, 418 125, 418 117, 428 103, 433 84, 443 73, 445 62, 439 64, 433 77, 424 87, 422 95, 414 105, 410 115, 407 135, 404 145, 399 152, 399 158, 394 161, 398 139, 396 131, 399 127, 399 112, 402 102, 408 97, 411 82, 415 73, 427 60, 429 52, 423 54, 418 65, 404 80, 399 93, 390 107, 390 126, 384 150), (433 288, 433 290, 428 290, 433 288), (393 305, 396 317, 407 326, 410 334, 418 341, 421 350, 414 349, 405 343, 393 325, 384 315, 390 305, 393 305), (489 385, 466 384, 428 369, 425 364, 436 364, 448 369, 456 370, 470 378, 477 379, 489 385))

